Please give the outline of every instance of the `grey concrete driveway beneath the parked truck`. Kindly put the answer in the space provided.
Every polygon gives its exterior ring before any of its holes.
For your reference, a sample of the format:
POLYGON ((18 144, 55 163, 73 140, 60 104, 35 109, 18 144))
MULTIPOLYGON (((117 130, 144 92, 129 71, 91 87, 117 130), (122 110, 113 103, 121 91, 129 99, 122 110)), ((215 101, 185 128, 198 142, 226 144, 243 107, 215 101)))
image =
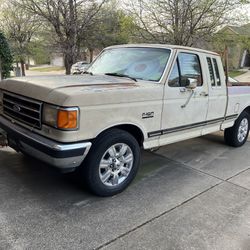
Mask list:
POLYGON ((143 153, 135 182, 98 198, 0 149, 0 249, 250 249, 250 142, 221 134, 143 153))

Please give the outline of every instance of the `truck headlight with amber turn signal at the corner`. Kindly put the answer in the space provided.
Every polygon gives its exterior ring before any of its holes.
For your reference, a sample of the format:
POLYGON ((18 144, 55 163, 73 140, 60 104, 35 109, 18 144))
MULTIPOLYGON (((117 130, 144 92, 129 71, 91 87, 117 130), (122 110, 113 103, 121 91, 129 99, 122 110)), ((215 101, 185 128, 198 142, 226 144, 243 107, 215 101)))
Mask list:
POLYGON ((43 123, 63 130, 76 130, 78 128, 79 108, 61 108, 44 104, 43 123))

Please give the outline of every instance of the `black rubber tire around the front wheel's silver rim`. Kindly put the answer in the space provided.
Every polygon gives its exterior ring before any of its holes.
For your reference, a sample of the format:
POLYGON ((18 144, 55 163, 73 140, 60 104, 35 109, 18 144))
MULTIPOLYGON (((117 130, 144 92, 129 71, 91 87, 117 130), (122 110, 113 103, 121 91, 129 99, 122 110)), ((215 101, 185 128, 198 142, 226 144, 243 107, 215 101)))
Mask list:
POLYGON ((127 188, 136 176, 139 165, 140 147, 137 140, 124 130, 110 129, 97 137, 93 142, 90 152, 80 167, 80 178, 85 180, 87 187, 92 193, 102 197, 112 196, 127 188), (113 145, 119 145, 119 143, 129 147, 129 152, 133 155, 133 164, 131 163, 130 172, 122 183, 116 184, 116 186, 107 186, 102 182, 99 175, 99 165, 107 150, 113 145))

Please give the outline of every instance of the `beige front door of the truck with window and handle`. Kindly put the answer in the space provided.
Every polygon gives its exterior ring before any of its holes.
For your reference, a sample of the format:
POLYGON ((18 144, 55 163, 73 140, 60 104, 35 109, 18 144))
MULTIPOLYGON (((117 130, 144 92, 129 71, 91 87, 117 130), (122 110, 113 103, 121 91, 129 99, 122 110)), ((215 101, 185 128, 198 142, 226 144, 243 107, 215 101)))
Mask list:
POLYGON ((179 50, 165 85, 160 145, 200 136, 208 110, 208 86, 199 52, 179 50), (197 87, 186 88, 193 82, 197 87))

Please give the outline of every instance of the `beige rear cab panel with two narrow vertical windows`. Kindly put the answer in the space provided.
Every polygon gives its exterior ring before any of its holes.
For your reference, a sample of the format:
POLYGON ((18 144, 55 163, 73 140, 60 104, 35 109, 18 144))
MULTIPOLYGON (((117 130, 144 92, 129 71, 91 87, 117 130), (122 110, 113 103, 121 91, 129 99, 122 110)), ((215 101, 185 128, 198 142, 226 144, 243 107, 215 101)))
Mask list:
POLYGON ((224 120, 227 92, 226 81, 221 60, 218 56, 207 55, 206 59, 208 77, 209 103, 207 113, 207 124, 202 130, 202 134, 208 134, 220 130, 220 125, 224 120))

